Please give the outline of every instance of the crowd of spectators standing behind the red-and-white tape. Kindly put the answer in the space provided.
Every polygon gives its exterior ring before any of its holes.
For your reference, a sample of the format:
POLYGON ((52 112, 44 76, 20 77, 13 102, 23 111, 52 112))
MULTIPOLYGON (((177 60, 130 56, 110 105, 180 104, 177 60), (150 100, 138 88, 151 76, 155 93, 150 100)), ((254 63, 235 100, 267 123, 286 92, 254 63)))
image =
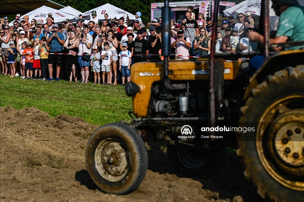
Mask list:
MULTIPOLYGON (((92 11, 91 19, 82 15, 73 25, 68 19, 55 23, 52 13, 46 24, 29 21, 29 16, 16 16, 13 23, 1 18, 2 74, 23 79, 60 80, 88 83, 90 72, 95 84, 130 81, 132 64, 141 61, 164 60, 161 55, 161 22, 154 19, 145 25, 141 13, 136 12, 133 23, 125 19, 109 19, 105 14, 99 20, 92 11), (101 24, 98 22, 101 21, 101 24), (92 74, 92 75, 93 75, 92 74), (120 77, 121 75, 121 77, 120 77)), ((212 19, 203 13, 197 15, 188 7, 181 24, 171 20, 170 60, 188 60, 210 54, 212 34, 216 34, 217 53, 247 53, 250 28, 257 28, 250 13, 240 13, 237 21, 230 15, 212 30, 212 19), (237 23, 234 23, 237 22, 237 23), (213 31, 213 33, 212 33, 213 31)), ((253 44, 253 50, 257 43, 253 44)), ((247 60, 240 58, 239 60, 247 60)))

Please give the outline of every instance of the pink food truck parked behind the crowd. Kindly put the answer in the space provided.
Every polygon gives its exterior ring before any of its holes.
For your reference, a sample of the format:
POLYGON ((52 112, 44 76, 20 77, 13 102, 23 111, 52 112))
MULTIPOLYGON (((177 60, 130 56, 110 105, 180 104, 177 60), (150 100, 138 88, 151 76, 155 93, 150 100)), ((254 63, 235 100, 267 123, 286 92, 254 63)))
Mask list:
MULTIPOLYGON (((223 10, 234 6, 234 2, 219 2, 219 18, 223 18, 223 10)), ((185 16, 185 11, 187 11, 188 6, 192 6, 195 11, 195 19, 198 20, 198 14, 204 13, 206 17, 211 17, 212 11, 214 9, 214 1, 186 1, 186 2, 169 2, 171 7, 171 18, 175 22, 181 24, 183 17, 185 16)), ((151 3, 151 21, 155 18, 161 17, 161 8, 164 7, 164 2, 151 3)))

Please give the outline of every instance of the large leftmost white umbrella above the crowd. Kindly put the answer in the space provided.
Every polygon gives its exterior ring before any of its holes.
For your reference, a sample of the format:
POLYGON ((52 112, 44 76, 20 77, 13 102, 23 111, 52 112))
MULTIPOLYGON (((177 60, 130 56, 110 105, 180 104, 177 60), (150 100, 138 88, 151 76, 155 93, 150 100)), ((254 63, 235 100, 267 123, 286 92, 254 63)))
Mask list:
MULTIPOLYGON (((26 13, 25 15, 22 15, 20 17, 20 20, 23 19, 24 16, 28 15, 29 16, 29 21, 31 21, 32 19, 36 19, 37 22, 42 22, 42 24, 47 23, 46 19, 48 17, 48 13, 52 13, 53 14, 53 18, 54 18, 54 22, 55 23, 59 23, 61 24, 62 21, 65 21, 66 19, 72 20, 75 19, 74 15, 70 15, 67 14, 65 12, 59 11, 57 9, 52 9, 50 7, 47 6, 42 6, 38 9, 35 9, 29 13, 26 13)), ((14 21, 12 21, 14 22, 14 21)))

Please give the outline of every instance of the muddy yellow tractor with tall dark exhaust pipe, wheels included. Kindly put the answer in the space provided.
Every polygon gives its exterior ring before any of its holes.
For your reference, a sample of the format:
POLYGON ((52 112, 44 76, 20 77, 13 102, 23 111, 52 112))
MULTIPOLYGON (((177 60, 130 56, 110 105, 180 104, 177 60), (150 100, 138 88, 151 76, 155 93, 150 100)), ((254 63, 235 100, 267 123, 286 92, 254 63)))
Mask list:
MULTIPOLYGON (((268 11, 268 1, 262 1, 264 22, 269 20, 268 11)), ((260 29, 265 37, 260 55, 265 60, 254 74, 246 60, 224 59, 258 53, 216 54, 216 35, 209 58, 168 62, 170 13, 165 1, 164 62, 131 67, 126 93, 132 96, 132 121, 103 125, 88 141, 86 164, 93 181, 105 193, 136 190, 148 167, 144 142, 167 140, 169 159, 184 176, 215 174, 230 147, 237 149, 244 174, 261 197, 303 201, 304 50, 269 52, 265 23, 260 29)), ((213 30, 217 18, 215 12, 213 30)), ((304 42, 272 46, 299 44, 304 42)))

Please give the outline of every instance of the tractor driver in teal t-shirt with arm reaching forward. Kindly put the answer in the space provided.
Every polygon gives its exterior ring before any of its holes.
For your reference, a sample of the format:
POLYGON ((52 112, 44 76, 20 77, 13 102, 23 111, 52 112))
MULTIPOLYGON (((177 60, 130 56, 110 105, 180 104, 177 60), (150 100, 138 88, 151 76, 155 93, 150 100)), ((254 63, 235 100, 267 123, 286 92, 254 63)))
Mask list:
MULTIPOLYGON (((270 39, 270 44, 285 43, 288 41, 304 41, 304 7, 296 0, 272 0, 272 8, 275 14, 280 16, 278 30, 274 39, 270 39)), ((250 41, 264 42, 264 36, 257 32, 248 33, 250 41)), ((304 46, 290 46, 284 50, 297 50, 304 46)), ((282 47, 273 50, 282 50, 282 47)), ((250 73, 254 73, 264 61, 264 56, 255 56, 249 62, 250 73)))

